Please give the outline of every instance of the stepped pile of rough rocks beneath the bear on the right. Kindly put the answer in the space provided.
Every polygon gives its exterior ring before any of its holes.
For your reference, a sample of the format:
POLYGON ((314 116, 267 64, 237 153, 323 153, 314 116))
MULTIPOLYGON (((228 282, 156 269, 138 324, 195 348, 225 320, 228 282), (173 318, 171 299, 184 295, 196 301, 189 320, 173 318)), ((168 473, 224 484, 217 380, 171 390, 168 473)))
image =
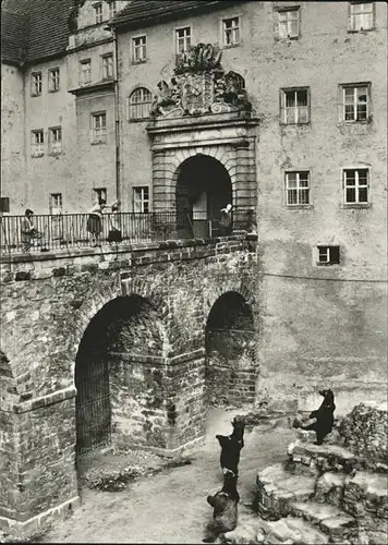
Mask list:
POLYGON ((223 543, 388 543, 387 409, 356 405, 314 441, 295 431, 288 460, 257 474, 257 512, 240 509, 223 543))

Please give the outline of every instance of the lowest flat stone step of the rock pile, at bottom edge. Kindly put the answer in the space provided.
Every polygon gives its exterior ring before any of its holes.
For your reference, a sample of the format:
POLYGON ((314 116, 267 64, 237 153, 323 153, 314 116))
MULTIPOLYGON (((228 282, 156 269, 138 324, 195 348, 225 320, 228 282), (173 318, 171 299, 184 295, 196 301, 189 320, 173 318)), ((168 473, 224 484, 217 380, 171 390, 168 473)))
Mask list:
POLYGON ((335 506, 317 501, 296 501, 291 514, 300 517, 327 534, 331 541, 347 540, 356 534, 356 520, 335 506))

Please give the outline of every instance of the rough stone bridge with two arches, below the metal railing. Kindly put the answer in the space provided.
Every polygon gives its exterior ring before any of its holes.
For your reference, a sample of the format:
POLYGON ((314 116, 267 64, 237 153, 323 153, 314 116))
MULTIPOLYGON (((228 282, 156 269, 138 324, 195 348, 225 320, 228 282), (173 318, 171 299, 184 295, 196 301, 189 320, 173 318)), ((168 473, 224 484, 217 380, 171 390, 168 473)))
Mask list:
POLYGON ((77 504, 84 452, 171 452, 204 435, 211 396, 255 399, 255 235, 13 256, 1 277, 5 529, 77 504))

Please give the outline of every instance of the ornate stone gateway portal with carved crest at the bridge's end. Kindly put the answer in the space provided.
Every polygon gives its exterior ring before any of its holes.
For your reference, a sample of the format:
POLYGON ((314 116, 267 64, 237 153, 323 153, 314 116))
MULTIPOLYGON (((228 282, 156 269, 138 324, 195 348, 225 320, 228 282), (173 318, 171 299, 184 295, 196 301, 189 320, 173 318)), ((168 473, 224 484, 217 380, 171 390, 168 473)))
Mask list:
MULTIPOLYGON (((147 125, 153 150, 155 211, 178 211, 177 183, 183 164, 207 156, 219 161, 229 174, 234 228, 244 227, 248 210, 256 209, 258 123, 244 78, 235 72, 225 72, 221 51, 210 44, 197 44, 177 57, 170 83, 160 81, 157 87, 147 125)), ((195 171, 191 178, 195 184, 195 171)), ((213 183, 211 174, 208 183, 213 183)), ((197 203, 202 201, 203 195, 197 203)))

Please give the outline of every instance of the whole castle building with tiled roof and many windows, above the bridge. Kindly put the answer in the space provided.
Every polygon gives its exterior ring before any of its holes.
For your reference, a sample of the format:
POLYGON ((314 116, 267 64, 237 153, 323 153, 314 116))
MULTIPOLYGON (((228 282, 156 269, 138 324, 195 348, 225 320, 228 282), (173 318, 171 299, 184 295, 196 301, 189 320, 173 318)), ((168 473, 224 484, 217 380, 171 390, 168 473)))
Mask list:
POLYGON ((3 4, 10 214, 119 198, 203 237, 231 204, 259 240, 259 396, 381 391, 386 4, 3 4))

